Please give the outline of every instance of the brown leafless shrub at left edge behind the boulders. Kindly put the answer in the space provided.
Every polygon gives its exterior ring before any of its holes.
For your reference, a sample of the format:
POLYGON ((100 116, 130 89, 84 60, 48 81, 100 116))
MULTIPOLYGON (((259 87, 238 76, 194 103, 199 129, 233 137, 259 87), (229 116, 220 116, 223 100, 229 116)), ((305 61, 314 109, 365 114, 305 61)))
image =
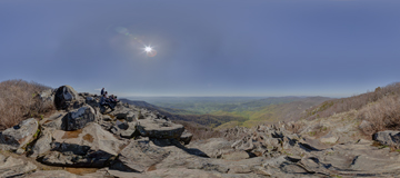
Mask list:
POLYGON ((23 80, 0 82, 0 131, 27 118, 54 110, 51 101, 41 102, 38 93, 50 87, 23 80))

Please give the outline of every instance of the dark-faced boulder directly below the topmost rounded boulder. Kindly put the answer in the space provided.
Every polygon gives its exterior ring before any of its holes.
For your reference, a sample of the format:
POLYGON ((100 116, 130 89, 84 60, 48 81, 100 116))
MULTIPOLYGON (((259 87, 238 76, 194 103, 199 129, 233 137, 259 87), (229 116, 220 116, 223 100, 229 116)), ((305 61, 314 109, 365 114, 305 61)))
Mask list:
POLYGON ((96 117, 94 109, 87 105, 70 111, 62 120, 62 128, 68 131, 78 130, 94 121, 96 117))

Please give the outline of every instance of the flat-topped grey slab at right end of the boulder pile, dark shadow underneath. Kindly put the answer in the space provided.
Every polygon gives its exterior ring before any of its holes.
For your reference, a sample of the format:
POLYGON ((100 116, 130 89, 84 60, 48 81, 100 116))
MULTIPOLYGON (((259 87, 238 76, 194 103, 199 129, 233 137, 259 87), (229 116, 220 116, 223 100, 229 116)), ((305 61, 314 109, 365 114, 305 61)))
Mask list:
POLYGON ((143 137, 179 139, 184 127, 164 119, 142 119, 138 122, 137 129, 143 137))

